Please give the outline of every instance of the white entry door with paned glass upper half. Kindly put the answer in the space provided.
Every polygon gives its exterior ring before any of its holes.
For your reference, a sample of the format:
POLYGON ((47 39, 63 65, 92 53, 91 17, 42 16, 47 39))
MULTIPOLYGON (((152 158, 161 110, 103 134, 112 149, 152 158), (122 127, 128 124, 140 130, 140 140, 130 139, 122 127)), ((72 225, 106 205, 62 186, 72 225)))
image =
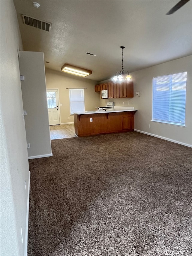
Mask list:
POLYGON ((47 90, 47 104, 49 113, 49 125, 60 125, 59 121, 59 104, 58 104, 58 90, 47 90))

